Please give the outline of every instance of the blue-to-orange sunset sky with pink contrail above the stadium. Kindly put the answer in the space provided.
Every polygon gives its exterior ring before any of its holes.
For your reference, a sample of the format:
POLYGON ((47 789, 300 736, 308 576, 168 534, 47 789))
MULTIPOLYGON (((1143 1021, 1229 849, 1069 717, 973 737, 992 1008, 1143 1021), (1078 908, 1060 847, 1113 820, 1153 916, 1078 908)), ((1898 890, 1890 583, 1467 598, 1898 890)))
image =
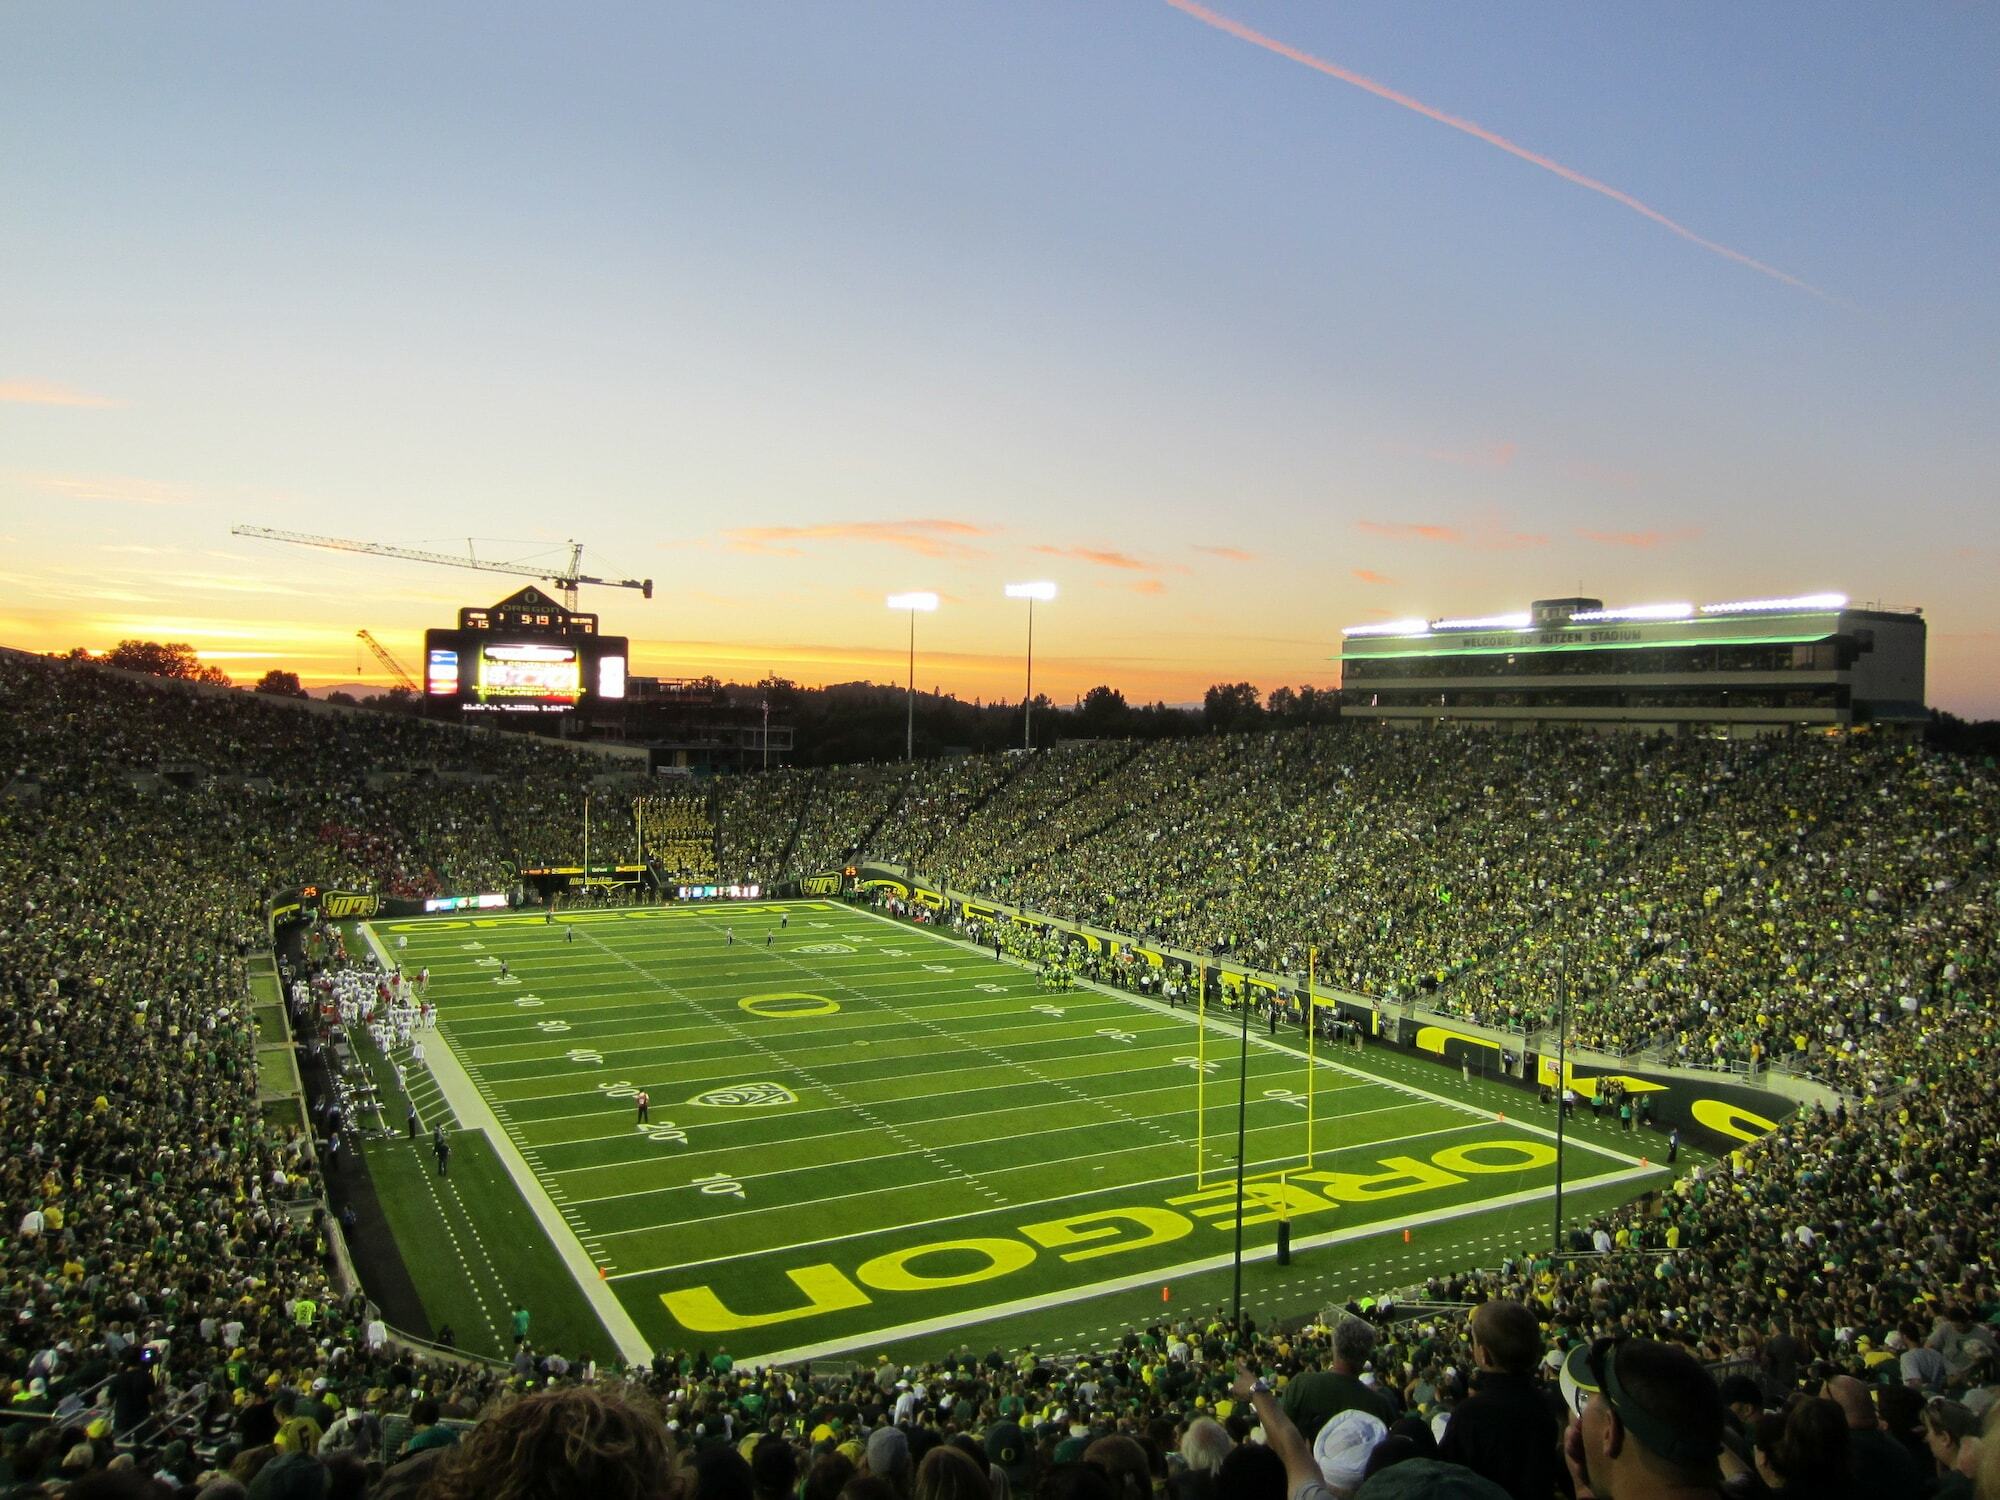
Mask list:
POLYGON ((1840 590, 2000 716, 2000 10, 0 6, 0 644, 1134 700, 1840 590), (522 580, 528 582, 528 580, 522 580))

